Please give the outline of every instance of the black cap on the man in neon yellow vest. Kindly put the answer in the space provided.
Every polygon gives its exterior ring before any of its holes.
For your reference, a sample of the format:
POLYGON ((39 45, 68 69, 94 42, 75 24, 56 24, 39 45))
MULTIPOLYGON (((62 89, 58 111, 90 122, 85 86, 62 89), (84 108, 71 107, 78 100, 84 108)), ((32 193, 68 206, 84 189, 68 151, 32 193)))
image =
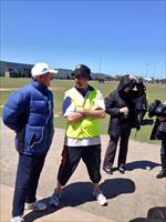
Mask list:
POLYGON ((81 75, 84 78, 87 78, 89 80, 92 80, 91 78, 91 69, 86 67, 85 64, 77 64, 75 67, 75 70, 72 72, 72 75, 81 75))

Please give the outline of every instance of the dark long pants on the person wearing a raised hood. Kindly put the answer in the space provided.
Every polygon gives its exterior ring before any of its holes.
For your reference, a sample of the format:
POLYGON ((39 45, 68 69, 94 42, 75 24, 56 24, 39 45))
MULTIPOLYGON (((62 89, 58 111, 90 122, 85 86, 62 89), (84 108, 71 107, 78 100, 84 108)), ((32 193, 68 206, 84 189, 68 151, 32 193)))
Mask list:
POLYGON ((117 149, 117 142, 120 141, 120 153, 117 167, 124 167, 126 163, 127 150, 128 150, 128 140, 131 134, 131 125, 123 127, 120 134, 115 138, 110 135, 110 142, 106 149, 103 168, 112 168, 115 159, 115 153, 117 149))

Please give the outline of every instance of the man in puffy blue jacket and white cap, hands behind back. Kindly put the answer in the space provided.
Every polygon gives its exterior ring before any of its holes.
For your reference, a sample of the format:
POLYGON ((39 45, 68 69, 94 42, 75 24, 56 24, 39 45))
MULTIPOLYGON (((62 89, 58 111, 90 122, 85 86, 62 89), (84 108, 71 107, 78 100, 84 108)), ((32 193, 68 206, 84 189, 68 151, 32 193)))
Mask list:
POLYGON ((46 209, 35 193, 54 133, 53 94, 48 89, 53 73, 56 70, 49 64, 37 63, 31 70, 32 81, 11 93, 3 108, 3 122, 15 132, 19 152, 11 222, 23 222, 24 209, 46 209))

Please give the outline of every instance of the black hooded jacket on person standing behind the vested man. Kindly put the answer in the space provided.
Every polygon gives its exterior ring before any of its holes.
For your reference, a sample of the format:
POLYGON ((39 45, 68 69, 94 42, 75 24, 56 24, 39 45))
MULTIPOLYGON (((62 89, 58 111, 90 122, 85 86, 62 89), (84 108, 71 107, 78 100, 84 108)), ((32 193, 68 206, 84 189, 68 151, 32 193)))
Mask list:
MULTIPOLYGON (((137 112, 136 112, 136 99, 142 94, 138 90, 131 90, 129 92, 124 92, 126 87, 137 88, 138 83, 135 80, 129 79, 128 75, 124 75, 117 89, 106 98, 105 108, 106 113, 111 115, 108 134, 113 137, 118 137, 121 129, 123 127, 131 127, 139 129, 137 112), (120 109, 127 107, 129 112, 127 117, 124 117, 123 113, 120 113, 120 109)), ((138 88, 137 88, 138 89, 138 88)))

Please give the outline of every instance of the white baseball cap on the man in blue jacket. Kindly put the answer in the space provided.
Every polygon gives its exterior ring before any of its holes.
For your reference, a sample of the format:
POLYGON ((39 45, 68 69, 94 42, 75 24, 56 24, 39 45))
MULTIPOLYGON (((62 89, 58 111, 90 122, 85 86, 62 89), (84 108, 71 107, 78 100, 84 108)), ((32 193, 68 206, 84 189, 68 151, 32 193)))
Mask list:
POLYGON ((59 71, 51 69, 48 63, 38 62, 37 64, 34 64, 34 67, 32 67, 31 75, 37 77, 37 75, 45 74, 48 72, 56 74, 59 71))

